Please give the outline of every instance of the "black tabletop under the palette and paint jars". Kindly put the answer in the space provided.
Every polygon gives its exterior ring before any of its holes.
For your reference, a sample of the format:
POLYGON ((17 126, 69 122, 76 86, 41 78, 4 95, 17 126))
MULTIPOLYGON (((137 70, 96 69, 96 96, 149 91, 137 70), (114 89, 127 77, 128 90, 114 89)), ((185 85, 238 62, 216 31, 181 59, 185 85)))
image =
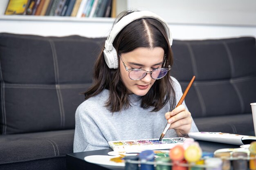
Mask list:
MULTIPOLYGON (((249 134, 248 134, 249 135, 249 134)), ((197 140, 204 152, 214 152, 222 148, 239 148, 238 145, 221 144, 209 141, 197 140)), ((84 161, 84 157, 90 155, 108 155, 112 149, 93 150, 87 152, 70 153, 66 155, 67 170, 124 170, 124 167, 103 166, 84 161)))

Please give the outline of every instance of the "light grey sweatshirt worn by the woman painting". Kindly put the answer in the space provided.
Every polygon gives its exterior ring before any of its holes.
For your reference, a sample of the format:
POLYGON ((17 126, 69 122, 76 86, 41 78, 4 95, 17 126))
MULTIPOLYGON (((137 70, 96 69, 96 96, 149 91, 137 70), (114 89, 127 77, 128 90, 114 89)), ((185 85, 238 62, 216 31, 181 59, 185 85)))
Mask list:
MULTIPOLYGON (((179 82, 171 78, 174 80, 176 103, 178 103, 182 97, 182 89, 179 82)), ((110 148, 108 141, 158 139, 160 137, 167 123, 165 113, 170 109, 169 104, 157 112, 150 112, 152 107, 141 108, 139 96, 132 94, 129 95, 131 106, 128 109, 111 113, 105 107, 108 97, 109 91, 103 90, 99 95, 87 99, 77 108, 74 152, 110 148)), ((185 105, 184 102, 183 104, 185 105)), ((190 132, 198 132, 194 121, 190 132)), ((164 138, 167 137, 178 136, 175 130, 170 129, 164 136, 164 138)))

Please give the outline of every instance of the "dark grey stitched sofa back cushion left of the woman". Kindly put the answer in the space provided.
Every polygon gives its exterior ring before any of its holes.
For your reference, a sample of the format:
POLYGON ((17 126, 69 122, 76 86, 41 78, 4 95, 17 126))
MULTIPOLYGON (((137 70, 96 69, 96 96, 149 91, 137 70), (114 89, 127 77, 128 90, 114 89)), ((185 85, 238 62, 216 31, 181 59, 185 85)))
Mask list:
POLYGON ((0 133, 74 128, 104 40, 0 33, 0 133))

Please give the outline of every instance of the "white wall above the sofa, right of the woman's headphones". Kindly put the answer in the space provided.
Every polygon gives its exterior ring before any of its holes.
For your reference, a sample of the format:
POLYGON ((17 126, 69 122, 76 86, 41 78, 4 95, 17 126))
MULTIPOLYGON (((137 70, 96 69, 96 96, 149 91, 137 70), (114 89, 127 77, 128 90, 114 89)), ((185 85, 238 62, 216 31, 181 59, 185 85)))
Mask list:
POLYGON ((128 0, 168 22, 174 39, 256 37, 256 0, 128 0))

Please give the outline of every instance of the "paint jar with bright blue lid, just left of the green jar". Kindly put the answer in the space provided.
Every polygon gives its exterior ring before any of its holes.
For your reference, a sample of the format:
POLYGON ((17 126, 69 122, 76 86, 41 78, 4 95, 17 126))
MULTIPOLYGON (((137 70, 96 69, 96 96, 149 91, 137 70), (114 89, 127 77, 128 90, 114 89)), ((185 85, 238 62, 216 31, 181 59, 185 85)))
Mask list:
POLYGON ((154 165, 147 164, 147 162, 153 162, 155 153, 152 150, 144 150, 139 154, 139 160, 141 161, 140 170, 154 170, 154 165))

